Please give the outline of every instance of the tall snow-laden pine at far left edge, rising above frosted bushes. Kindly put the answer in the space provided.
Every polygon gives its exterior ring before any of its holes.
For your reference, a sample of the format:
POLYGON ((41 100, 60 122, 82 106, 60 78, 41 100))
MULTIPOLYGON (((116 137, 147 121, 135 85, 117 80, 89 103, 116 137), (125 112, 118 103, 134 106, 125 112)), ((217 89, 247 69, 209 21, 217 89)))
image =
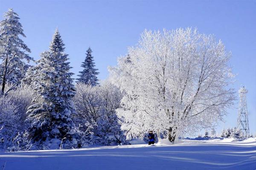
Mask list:
POLYGON ((33 60, 26 52, 30 52, 27 45, 20 39, 26 37, 19 22, 18 14, 9 9, 0 22, 0 82, 1 95, 5 93, 6 84, 12 84, 13 89, 20 83, 26 73, 28 65, 23 61, 33 60))

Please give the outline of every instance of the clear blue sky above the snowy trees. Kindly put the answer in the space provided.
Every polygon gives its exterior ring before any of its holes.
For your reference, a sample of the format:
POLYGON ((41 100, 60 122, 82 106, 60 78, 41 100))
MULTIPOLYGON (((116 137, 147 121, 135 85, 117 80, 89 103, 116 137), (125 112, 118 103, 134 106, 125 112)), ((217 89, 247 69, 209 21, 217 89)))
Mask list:
MULTIPOLYGON (((232 87, 238 91, 245 85, 249 90, 250 131, 256 133, 256 0, 0 0, 2 16, 8 8, 20 16, 27 36, 23 40, 32 57, 39 59, 39 54, 48 49, 58 26, 70 55, 71 71, 81 71, 90 46, 99 79, 108 77, 107 67, 116 65, 117 57, 125 55, 128 46, 136 45, 145 28, 197 27, 201 33, 215 34, 233 54, 230 65, 238 75, 232 87)), ((237 108, 238 101, 218 131, 236 126, 237 108)))

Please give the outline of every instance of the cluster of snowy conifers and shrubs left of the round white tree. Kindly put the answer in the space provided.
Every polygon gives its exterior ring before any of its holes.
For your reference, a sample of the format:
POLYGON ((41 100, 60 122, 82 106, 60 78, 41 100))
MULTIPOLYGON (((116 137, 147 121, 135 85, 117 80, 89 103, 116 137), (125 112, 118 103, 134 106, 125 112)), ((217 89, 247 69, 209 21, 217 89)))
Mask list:
POLYGON ((49 50, 35 61, 20 39, 26 36, 17 13, 9 9, 0 27, 0 144, 4 149, 126 142, 115 112, 122 93, 107 80, 99 86, 91 48, 75 86, 58 29, 49 50), (29 65, 31 61, 36 65, 29 65))

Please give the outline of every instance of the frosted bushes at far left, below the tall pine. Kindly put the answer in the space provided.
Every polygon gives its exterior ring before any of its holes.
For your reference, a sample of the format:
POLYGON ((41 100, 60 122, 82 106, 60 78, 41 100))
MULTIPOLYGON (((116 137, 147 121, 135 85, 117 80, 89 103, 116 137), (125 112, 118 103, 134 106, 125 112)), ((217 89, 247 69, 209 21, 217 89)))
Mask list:
MULTIPOLYGON (((9 88, 7 86, 7 88, 9 88)), ((14 147, 17 133, 26 129, 26 110, 31 105, 32 94, 28 87, 17 88, 0 97, 0 147, 14 147)))

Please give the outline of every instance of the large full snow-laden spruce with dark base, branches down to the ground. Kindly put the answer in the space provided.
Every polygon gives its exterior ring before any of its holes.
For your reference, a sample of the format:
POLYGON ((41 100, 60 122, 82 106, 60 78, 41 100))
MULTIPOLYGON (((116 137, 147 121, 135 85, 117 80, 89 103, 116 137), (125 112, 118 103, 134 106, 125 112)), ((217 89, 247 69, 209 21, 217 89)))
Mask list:
POLYGON ((28 108, 27 120, 31 122, 29 133, 34 142, 61 140, 74 126, 71 115, 75 114, 75 108, 71 99, 75 88, 67 56, 56 29, 49 51, 41 54, 38 65, 33 68, 34 104, 28 108))

